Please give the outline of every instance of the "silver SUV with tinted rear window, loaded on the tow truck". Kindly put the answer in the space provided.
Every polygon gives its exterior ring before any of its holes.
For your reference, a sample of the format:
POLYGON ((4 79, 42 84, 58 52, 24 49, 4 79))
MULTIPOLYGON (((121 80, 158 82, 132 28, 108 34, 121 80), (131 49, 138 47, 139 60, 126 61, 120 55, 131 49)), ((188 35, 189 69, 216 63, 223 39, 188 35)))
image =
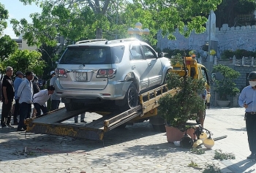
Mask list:
POLYGON ((168 58, 138 39, 91 39, 69 45, 56 69, 56 93, 67 111, 85 104, 130 109, 138 93, 165 82, 168 58))

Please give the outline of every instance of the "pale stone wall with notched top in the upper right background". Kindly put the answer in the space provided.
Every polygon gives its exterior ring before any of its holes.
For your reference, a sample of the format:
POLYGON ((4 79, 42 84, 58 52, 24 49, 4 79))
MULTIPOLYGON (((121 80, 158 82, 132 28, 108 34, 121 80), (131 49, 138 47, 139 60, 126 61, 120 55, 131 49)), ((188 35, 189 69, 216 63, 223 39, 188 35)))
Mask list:
MULTIPOLYGON (((161 50, 164 48, 171 50, 198 50, 200 54, 203 54, 201 46, 208 42, 208 31, 202 34, 192 32, 189 38, 185 38, 179 34, 178 30, 174 35, 176 36, 176 40, 170 40, 167 39, 167 36, 162 36, 161 31, 159 31, 157 34, 157 47, 161 50)), ((256 51, 256 26, 237 26, 235 28, 223 24, 222 28, 216 28, 215 36, 219 40, 217 44, 217 58, 219 58, 223 50, 245 49, 256 51)))

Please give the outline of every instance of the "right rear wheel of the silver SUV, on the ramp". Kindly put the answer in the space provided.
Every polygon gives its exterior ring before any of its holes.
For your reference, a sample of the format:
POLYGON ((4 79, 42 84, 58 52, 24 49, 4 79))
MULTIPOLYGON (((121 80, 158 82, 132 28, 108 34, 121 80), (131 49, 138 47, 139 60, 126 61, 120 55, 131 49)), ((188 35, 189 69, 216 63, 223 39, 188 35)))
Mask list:
POLYGON ((138 105, 138 91, 135 85, 132 83, 129 85, 128 91, 124 97, 124 99, 118 103, 121 110, 131 109, 132 107, 136 107, 138 105))

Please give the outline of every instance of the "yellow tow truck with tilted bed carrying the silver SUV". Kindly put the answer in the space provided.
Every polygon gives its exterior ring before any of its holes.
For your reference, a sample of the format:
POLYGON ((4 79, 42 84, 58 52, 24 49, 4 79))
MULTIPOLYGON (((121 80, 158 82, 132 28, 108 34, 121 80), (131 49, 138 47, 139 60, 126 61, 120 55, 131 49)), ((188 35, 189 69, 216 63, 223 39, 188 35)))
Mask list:
MULTIPOLYGON (((186 69, 182 68, 181 64, 173 66, 172 72, 176 72, 180 76, 189 75, 193 78, 204 78, 206 80, 206 87, 209 86, 208 75, 206 67, 198 64, 195 58, 186 57, 186 69)), ((159 106, 159 99, 166 94, 174 96, 181 89, 167 88, 167 85, 161 85, 157 88, 141 93, 137 107, 132 107, 127 111, 121 112, 118 109, 100 110, 99 107, 91 107, 78 109, 67 112, 65 107, 57 109, 53 112, 48 112, 46 115, 40 115, 37 118, 30 118, 25 120, 26 132, 36 134, 52 134, 65 137, 86 138, 102 140, 105 132, 113 128, 125 126, 127 123, 140 123, 149 119, 149 123, 153 127, 164 126, 164 121, 157 115, 157 107, 159 106), (101 118, 93 120, 91 123, 83 125, 73 123, 62 123, 65 120, 80 115, 83 112, 95 112, 102 115, 101 118)))

